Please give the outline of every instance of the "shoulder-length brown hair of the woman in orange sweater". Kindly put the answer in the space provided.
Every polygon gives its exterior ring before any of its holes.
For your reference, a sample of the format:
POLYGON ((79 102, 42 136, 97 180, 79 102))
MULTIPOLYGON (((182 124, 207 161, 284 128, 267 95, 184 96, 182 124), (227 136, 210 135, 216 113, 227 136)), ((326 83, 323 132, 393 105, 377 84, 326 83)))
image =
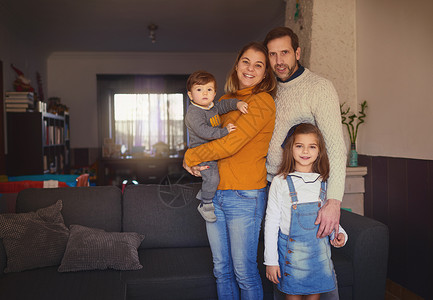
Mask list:
POLYGON ((258 94, 261 92, 269 93, 271 96, 275 94, 275 88, 277 86, 277 81, 275 79, 274 73, 272 71, 271 64, 269 63, 268 50, 262 43, 251 42, 245 45, 241 51, 239 51, 238 57, 236 58, 235 64, 227 76, 227 81, 224 86, 224 90, 227 94, 234 95, 239 90, 239 78, 236 72, 236 67, 244 55, 245 51, 252 49, 254 51, 262 52, 266 58, 266 70, 265 70, 265 78, 261 82, 259 82, 253 89, 253 94, 258 94))

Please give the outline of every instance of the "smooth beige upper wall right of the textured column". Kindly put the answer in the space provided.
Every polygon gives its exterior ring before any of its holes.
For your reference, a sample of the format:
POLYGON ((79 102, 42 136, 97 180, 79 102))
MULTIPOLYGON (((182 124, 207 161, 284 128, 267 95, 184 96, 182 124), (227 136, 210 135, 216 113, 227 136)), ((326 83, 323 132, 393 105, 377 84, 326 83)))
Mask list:
POLYGON ((368 101, 358 149, 433 159, 433 1, 356 2, 358 99, 368 101))

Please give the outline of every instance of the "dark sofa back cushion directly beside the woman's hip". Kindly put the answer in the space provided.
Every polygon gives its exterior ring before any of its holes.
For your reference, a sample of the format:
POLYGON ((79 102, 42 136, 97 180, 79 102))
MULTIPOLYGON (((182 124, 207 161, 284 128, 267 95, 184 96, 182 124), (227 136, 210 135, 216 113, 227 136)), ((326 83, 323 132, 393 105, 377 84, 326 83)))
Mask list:
POLYGON ((209 246, 195 198, 200 187, 128 185, 123 193, 123 231, 144 234, 140 248, 209 246))

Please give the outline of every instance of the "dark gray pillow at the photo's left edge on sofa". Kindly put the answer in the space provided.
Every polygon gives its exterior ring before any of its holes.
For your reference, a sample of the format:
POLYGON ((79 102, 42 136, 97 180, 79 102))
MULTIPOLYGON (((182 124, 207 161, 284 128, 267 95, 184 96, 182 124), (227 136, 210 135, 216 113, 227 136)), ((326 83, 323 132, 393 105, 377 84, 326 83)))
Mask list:
POLYGON ((5 273, 59 265, 69 230, 62 201, 36 212, 0 215, 0 238, 6 250, 5 273))

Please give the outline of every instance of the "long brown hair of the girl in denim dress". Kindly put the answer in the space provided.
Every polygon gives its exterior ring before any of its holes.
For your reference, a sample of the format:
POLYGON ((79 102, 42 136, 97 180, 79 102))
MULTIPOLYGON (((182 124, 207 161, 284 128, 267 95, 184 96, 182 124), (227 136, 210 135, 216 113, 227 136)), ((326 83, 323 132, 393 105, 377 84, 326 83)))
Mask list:
POLYGON ((295 138, 298 134, 310 134, 313 133, 317 138, 317 145, 319 147, 319 156, 313 164, 313 172, 319 173, 323 181, 326 181, 329 177, 329 159, 326 153, 325 139, 319 128, 309 123, 301 123, 296 125, 297 127, 293 131, 293 134, 288 136, 284 141, 283 148, 283 161, 281 162, 278 174, 282 174, 284 178, 295 171, 295 159, 293 158, 293 145, 295 138))

